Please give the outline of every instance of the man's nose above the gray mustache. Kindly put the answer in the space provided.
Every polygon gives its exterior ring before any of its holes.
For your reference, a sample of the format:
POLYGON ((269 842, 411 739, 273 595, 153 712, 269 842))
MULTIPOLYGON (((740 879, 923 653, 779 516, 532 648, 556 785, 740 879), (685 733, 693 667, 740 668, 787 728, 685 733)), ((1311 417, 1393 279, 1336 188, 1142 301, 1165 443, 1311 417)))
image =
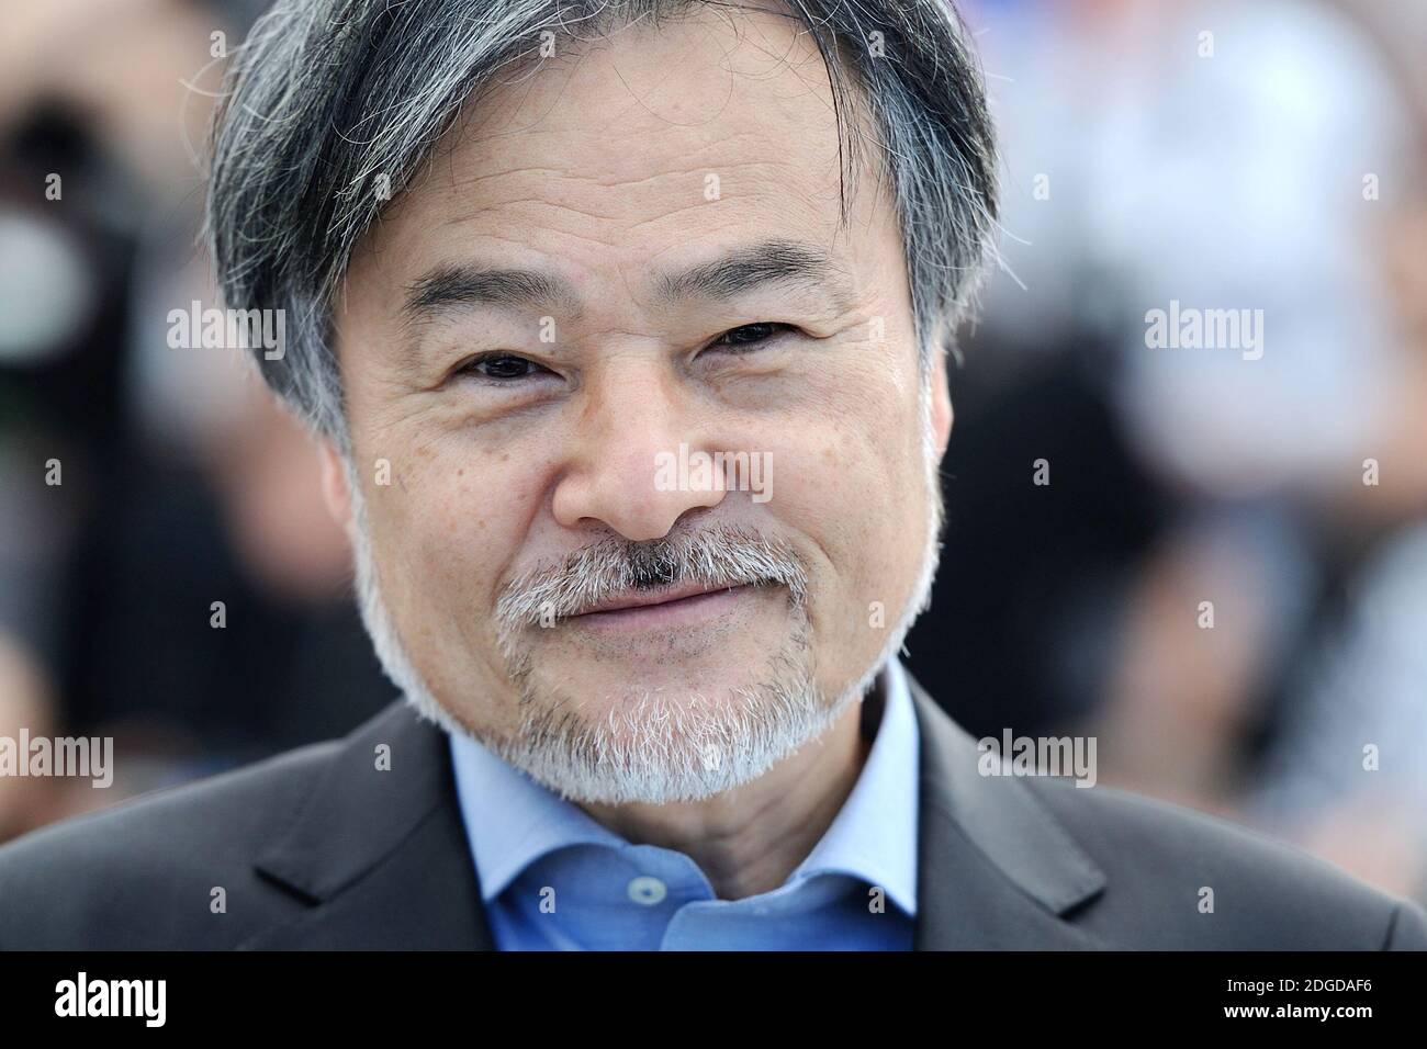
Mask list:
POLYGON ((605 525, 631 541, 658 539, 691 510, 722 502, 722 474, 681 468, 704 445, 696 410, 666 365, 618 361, 589 375, 581 395, 571 465, 554 495, 561 525, 605 525))

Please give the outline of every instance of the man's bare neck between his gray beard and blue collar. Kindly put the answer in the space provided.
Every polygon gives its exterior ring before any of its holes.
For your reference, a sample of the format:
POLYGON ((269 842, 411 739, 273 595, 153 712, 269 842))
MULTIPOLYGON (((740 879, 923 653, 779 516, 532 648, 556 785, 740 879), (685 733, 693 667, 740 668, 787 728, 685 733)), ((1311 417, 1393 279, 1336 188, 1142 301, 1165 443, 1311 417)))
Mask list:
POLYGON ((698 802, 582 808, 635 845, 659 845, 694 859, 719 899, 776 889, 812 852, 852 794, 870 742, 862 704, 758 779, 698 802))

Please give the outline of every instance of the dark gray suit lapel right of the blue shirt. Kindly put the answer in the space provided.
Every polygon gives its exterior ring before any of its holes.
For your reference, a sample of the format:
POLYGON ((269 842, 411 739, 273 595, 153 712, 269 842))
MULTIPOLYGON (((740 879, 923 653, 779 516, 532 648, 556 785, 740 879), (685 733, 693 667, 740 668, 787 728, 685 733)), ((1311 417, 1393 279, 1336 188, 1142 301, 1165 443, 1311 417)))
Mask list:
POLYGON ((1062 919, 1104 872, 1019 779, 977 772, 976 741, 908 675, 920 732, 918 951, 1093 949, 1062 919))

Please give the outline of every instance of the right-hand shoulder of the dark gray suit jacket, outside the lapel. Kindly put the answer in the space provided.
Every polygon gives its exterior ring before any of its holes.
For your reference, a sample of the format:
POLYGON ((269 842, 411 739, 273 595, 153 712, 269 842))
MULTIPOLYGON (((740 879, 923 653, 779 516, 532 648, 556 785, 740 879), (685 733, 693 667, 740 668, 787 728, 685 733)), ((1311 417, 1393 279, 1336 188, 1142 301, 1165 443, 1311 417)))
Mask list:
POLYGON ((1112 786, 1022 779, 1106 872, 1079 921, 1112 946, 1427 949, 1427 913, 1230 819, 1112 786))

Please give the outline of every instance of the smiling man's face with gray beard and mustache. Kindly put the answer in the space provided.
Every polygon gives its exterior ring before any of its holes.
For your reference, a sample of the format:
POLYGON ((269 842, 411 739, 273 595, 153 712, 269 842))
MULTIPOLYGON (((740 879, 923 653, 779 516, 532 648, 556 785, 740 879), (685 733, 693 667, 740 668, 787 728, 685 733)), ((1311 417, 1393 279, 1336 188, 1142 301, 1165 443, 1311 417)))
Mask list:
POLYGON ((430 696, 532 775, 595 795, 561 761, 698 759, 712 791, 761 771, 725 749, 766 768, 826 725, 935 557, 900 237, 870 168, 839 228, 788 20, 635 27, 512 80, 337 303, 374 582, 430 696), (749 471, 709 484, 701 452, 749 471))

